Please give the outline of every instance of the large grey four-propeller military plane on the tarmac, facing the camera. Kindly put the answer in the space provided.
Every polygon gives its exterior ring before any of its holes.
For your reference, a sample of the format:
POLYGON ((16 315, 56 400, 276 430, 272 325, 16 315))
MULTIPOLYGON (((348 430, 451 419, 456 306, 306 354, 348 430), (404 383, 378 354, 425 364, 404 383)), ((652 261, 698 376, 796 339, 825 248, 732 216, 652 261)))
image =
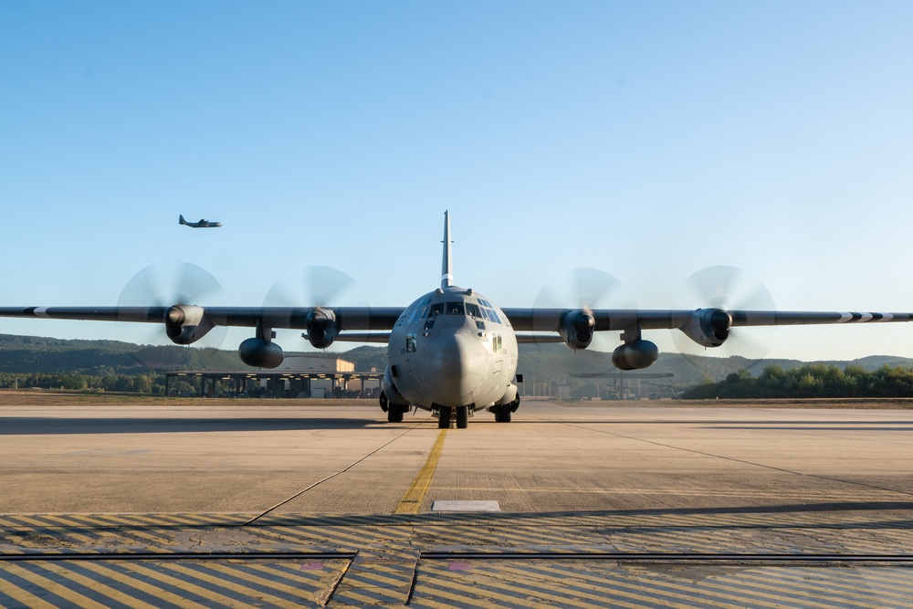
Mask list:
POLYGON ((391 423, 411 407, 436 414, 438 427, 468 425, 470 415, 487 410, 509 423, 519 407, 515 383, 518 343, 564 342, 586 349, 595 332, 620 331, 612 353, 620 370, 647 368, 659 357, 645 330, 678 330, 703 347, 721 346, 732 328, 913 320, 913 313, 808 312, 776 310, 635 310, 588 308, 500 309, 474 289, 454 284, 450 217, 444 215, 440 288, 408 307, 26 307, 0 308, 2 317, 58 320, 110 320, 162 323, 168 338, 191 344, 216 326, 254 328, 238 355, 249 366, 275 368, 283 352, 273 330, 304 330, 316 349, 334 341, 386 342, 381 408, 391 423))

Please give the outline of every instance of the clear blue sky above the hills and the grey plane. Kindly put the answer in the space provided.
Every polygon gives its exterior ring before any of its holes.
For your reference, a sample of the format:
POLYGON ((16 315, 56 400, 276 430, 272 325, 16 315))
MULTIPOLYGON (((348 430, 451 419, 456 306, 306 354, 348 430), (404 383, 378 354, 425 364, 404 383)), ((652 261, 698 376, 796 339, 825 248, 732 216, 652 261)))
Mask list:
MULTIPOLYGON (((116 304, 182 260, 219 303, 328 265, 340 304, 405 305, 449 209, 456 282, 502 307, 579 267, 697 307, 684 279, 730 265, 784 310, 913 310, 911 27, 909 2, 5 2, 0 306, 116 304)), ((761 336, 913 357, 909 325, 761 336)))

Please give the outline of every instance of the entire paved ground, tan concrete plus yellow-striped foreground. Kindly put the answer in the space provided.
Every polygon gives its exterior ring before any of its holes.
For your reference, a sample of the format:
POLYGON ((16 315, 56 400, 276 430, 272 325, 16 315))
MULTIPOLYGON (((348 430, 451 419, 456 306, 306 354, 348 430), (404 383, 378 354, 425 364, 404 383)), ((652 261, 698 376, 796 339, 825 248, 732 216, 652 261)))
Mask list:
POLYGON ((913 606, 913 411, 656 404, 0 406, 0 606, 913 606))

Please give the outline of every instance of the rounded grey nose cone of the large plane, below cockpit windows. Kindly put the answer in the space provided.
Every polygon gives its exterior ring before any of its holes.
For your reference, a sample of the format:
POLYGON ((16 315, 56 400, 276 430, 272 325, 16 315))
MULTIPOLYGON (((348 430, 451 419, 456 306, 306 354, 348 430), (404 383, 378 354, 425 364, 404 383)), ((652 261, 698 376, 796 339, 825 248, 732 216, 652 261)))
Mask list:
POLYGON ((432 339, 426 353, 425 383, 434 389, 435 402, 443 406, 472 404, 485 380, 485 347, 475 337, 457 332, 432 339))

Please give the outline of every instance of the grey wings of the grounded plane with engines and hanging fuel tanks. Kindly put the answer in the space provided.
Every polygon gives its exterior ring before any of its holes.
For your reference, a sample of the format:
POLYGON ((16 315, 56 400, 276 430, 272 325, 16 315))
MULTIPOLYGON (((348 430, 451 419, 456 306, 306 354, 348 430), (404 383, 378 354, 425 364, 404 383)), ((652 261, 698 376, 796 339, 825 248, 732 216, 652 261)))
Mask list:
MULTIPOLYGON (((620 331, 623 343, 612 355, 622 370, 646 368, 658 348, 645 341, 644 330, 679 330, 704 347, 719 347, 732 328, 845 323, 891 323, 913 320, 913 313, 776 310, 634 310, 634 309, 502 309, 521 343, 564 342, 586 349, 594 332, 620 331)), ((96 320, 163 323, 177 344, 190 344, 215 326, 255 328, 242 343, 241 359, 252 366, 275 367, 282 350, 272 343, 273 330, 306 331, 317 349, 333 341, 386 342, 402 307, 5 307, 0 317, 49 320, 96 320)))

